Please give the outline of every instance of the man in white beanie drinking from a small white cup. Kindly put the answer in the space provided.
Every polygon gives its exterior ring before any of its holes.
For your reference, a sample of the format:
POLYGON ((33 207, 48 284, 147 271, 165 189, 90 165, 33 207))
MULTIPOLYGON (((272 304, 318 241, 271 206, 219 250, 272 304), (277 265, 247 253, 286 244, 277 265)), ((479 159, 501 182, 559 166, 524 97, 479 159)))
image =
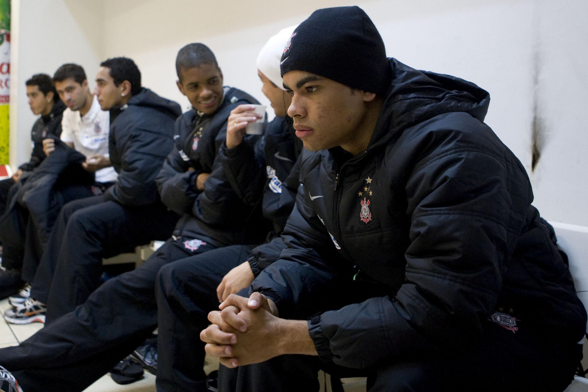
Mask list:
MULTIPOLYGON (((249 105, 238 106, 229 116, 226 143, 220 149, 226 176, 239 197, 252 206, 262 200, 263 216, 273 224, 267 240, 272 253, 285 247, 279 234, 292 212, 300 184, 298 157, 302 142, 294 135, 292 119, 286 116, 290 95, 278 87, 282 86, 280 56, 293 28, 270 38, 257 61, 262 92, 270 100, 276 118, 252 146, 249 136, 244 135, 245 127, 257 118, 249 105)), ((204 343, 199 339, 200 331, 208 325, 206 316, 230 293, 249 286, 271 259, 266 252, 266 247, 261 246, 243 252, 242 245, 234 245, 161 268, 157 279, 158 391, 207 391, 204 343)), ((289 356, 281 365, 295 378, 282 378, 282 383, 268 373, 250 374, 255 378, 252 390, 318 390, 318 362, 289 356)), ((220 390, 241 390, 236 386, 229 389, 228 381, 220 381, 220 390)))

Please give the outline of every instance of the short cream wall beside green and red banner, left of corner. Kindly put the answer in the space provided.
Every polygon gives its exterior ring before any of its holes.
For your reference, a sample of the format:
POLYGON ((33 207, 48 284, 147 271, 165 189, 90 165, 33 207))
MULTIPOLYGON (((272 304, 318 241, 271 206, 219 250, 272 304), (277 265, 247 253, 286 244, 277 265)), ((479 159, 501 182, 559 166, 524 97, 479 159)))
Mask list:
POLYGON ((12 0, 10 164, 31 156, 31 127, 36 117, 26 98, 25 81, 35 73, 53 76, 74 62, 85 68, 90 85, 102 52, 103 7, 76 0, 12 0), (76 6, 79 5, 79 6, 76 6))

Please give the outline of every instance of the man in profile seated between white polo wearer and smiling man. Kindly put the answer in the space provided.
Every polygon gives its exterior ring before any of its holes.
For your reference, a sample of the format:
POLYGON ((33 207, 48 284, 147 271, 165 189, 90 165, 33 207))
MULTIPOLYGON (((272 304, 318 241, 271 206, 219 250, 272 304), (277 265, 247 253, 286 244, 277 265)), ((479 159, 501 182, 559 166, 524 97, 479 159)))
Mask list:
POLYGON ((54 320, 74 310, 99 286, 103 257, 165 239, 178 220, 159 199, 155 184, 173 146, 173 123, 181 115, 178 103, 142 88, 141 72, 127 58, 101 63, 95 92, 101 108, 111 111, 109 158, 90 156, 85 165, 96 170, 112 162, 118 179, 104 195, 64 206, 31 297, 5 312, 9 323, 44 322, 45 304, 54 320))

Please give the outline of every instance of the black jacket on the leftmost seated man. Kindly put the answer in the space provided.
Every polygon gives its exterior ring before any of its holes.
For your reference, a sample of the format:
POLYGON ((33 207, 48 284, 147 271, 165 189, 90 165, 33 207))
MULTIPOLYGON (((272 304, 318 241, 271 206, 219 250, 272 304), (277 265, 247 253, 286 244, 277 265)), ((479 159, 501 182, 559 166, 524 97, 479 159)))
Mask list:
POLYGON ((31 140, 33 142, 33 150, 31 152, 31 160, 19 166, 19 169, 25 172, 30 172, 35 167, 41 165, 41 162, 47 156, 43 152, 43 139, 47 136, 54 136, 59 138, 61 135, 61 118, 64 115, 65 105, 58 99, 54 103, 51 113, 46 116, 39 117, 33 124, 31 129, 31 140))

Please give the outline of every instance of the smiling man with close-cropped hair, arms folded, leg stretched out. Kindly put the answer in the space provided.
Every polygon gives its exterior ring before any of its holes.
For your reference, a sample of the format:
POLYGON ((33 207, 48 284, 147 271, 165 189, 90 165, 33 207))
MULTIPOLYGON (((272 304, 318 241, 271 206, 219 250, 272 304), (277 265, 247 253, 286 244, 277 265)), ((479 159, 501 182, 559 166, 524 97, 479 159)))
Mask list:
POLYGON ((182 219, 140 267, 109 279, 82 306, 20 346, 0 349, 0 364, 25 391, 82 391, 151 336, 157 326, 156 276, 163 265, 234 243, 243 244, 240 252, 247 254, 266 237, 259 205, 240 200, 216 153, 230 111, 257 100, 223 88, 216 58, 202 43, 179 51, 176 71, 178 88, 193 109, 176 120, 175 145, 157 181, 163 202, 182 219))

